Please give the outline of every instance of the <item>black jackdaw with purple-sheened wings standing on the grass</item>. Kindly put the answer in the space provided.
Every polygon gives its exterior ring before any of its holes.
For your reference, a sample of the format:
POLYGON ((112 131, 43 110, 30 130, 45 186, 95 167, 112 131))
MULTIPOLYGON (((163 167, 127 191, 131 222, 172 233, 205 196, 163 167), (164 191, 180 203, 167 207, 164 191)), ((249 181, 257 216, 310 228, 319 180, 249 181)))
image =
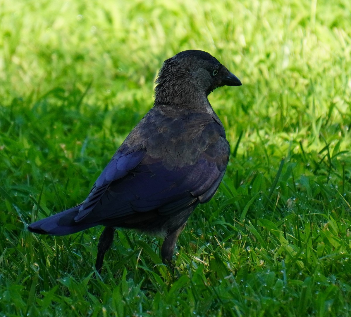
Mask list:
POLYGON ((100 273, 116 227, 163 235, 171 264, 180 232, 198 204, 209 201, 223 178, 230 147, 207 96, 240 80, 216 58, 186 50, 158 74, 153 108, 130 132, 78 206, 37 221, 31 232, 66 235, 97 225, 100 273))

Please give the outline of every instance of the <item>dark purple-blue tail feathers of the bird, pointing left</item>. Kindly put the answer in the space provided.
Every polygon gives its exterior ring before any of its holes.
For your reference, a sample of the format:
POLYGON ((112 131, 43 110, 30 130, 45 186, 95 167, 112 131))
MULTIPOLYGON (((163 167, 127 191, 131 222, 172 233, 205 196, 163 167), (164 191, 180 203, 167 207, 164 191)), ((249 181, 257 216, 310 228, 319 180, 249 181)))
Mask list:
POLYGON ((76 222, 80 205, 67 209, 28 226, 28 230, 40 234, 66 235, 76 233, 98 225, 98 223, 76 222))

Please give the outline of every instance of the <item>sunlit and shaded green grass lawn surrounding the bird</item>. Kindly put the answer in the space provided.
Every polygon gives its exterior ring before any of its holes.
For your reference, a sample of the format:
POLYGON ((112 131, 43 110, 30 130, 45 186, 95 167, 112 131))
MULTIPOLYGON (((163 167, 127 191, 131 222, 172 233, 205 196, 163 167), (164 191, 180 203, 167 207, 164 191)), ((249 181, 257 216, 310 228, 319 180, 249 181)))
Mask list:
POLYGON ((0 0, 0 316, 351 316, 350 1, 0 0), (153 103, 161 63, 216 56, 231 144, 180 235, 34 235, 81 202, 153 103))

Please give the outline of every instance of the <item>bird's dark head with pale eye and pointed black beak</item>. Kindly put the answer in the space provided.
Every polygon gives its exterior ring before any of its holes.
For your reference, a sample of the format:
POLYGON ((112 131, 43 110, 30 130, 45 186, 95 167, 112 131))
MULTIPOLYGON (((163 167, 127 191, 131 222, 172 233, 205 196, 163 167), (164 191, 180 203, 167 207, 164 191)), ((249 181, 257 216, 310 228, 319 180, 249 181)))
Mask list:
MULTIPOLYGON (((156 80, 155 97, 171 93, 175 102, 183 102, 186 95, 200 93, 206 97, 217 87, 240 86, 237 76, 217 58, 200 50, 186 50, 163 63, 156 80)), ((164 101, 165 102, 165 101, 164 101)))

